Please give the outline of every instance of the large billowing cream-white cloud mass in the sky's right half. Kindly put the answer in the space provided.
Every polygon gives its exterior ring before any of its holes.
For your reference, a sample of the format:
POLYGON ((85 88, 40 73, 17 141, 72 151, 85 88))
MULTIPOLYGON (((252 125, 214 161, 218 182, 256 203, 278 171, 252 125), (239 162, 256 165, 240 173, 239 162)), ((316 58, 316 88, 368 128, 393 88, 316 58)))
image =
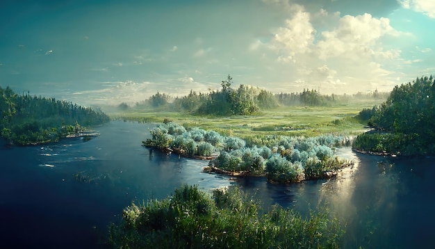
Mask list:
POLYGON ((258 38, 249 45, 251 53, 262 54, 264 60, 272 58, 270 72, 281 72, 272 88, 317 89, 321 85, 323 93, 353 93, 374 90, 380 83, 397 84, 394 78, 400 72, 390 68, 404 62, 402 51, 400 47, 386 49, 384 44, 407 34, 395 30, 388 18, 368 13, 340 17, 324 9, 308 13, 298 5, 289 9, 293 10, 288 12, 290 18, 272 29, 270 38, 258 38))

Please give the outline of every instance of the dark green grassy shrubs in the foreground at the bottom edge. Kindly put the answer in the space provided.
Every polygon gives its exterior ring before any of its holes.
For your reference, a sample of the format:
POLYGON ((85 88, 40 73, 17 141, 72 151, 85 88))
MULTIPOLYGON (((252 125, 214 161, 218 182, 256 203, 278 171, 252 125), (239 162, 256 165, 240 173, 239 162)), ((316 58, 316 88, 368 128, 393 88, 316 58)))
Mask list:
POLYGON ((326 209, 302 217, 274 206, 267 214, 238 188, 181 186, 171 198, 132 204, 109 227, 114 248, 339 248, 343 230, 326 209))

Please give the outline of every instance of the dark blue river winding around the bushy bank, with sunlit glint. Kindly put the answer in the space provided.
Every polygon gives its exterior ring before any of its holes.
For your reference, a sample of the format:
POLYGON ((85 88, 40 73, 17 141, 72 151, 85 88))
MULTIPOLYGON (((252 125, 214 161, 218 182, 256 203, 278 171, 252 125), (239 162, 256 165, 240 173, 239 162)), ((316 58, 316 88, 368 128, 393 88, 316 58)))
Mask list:
POLYGON ((345 226, 343 248, 427 248, 435 230, 435 159, 384 158, 340 148, 355 161, 336 179, 269 184, 202 172, 208 161, 140 146, 151 124, 114 121, 89 141, 1 146, 1 248, 104 248, 107 225, 131 202, 165 198, 181 184, 237 185, 261 200, 308 214, 326 205, 345 226))

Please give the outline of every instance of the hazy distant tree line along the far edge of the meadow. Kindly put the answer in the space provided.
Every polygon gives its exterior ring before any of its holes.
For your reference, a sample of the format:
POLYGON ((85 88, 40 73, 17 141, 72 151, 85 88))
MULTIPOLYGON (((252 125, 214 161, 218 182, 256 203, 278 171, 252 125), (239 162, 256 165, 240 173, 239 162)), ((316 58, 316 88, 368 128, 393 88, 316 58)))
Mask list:
MULTIPOLYGON (((389 93, 357 93, 355 95, 321 95, 319 90, 304 89, 302 93, 273 94, 268 90, 240 84, 232 88, 233 78, 222 81, 220 90, 209 93, 190 93, 183 97, 171 97, 166 93, 156 93, 149 99, 137 102, 133 109, 161 109, 188 112, 197 115, 251 115, 258 111, 274 109, 277 106, 333 106, 345 104, 351 99, 386 99, 389 93)), ((122 103, 120 111, 130 106, 122 103)))

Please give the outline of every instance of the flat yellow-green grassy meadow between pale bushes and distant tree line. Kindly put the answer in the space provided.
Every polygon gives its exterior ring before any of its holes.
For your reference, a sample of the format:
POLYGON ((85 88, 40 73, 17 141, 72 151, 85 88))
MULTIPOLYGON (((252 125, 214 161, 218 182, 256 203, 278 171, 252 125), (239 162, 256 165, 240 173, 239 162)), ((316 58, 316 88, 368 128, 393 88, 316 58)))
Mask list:
POLYGON ((213 129, 227 136, 246 138, 258 135, 318 136, 320 134, 356 135, 365 124, 354 116, 379 102, 354 102, 338 106, 280 106, 256 115, 212 117, 170 111, 136 110, 108 112, 111 118, 138 122, 163 122, 168 119, 185 127, 213 129))

